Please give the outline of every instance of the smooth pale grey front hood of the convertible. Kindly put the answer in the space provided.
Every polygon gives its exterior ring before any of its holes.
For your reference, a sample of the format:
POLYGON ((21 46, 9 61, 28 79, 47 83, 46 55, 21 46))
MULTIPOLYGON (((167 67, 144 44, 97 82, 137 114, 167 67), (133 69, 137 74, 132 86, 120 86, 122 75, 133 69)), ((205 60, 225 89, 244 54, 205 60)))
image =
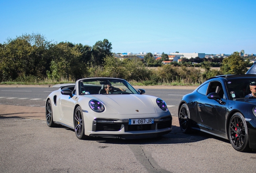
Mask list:
POLYGON ((121 115, 156 113, 155 106, 147 95, 94 95, 94 97, 101 101, 106 109, 111 107, 121 115))

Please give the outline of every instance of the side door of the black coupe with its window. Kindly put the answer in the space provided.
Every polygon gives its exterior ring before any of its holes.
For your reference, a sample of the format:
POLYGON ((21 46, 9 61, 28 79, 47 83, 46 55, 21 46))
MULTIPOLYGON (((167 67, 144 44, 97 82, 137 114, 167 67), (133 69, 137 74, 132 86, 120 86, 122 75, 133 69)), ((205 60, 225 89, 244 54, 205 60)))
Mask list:
POLYGON ((202 120, 202 125, 206 130, 225 132, 226 102, 227 100, 225 99, 221 82, 210 82, 206 95, 198 99, 198 112, 202 120), (207 95, 210 93, 219 94, 222 102, 220 103, 215 99, 209 99, 207 95))

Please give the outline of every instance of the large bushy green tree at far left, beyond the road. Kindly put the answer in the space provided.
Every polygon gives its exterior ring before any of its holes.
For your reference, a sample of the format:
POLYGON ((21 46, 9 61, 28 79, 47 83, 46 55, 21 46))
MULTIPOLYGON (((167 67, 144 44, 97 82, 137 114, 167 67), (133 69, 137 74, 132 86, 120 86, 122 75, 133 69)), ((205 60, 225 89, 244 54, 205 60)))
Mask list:
POLYGON ((40 34, 23 34, 17 38, 8 38, 0 50, 0 71, 2 80, 15 80, 17 77, 46 76, 50 60, 47 56, 50 47, 40 34))

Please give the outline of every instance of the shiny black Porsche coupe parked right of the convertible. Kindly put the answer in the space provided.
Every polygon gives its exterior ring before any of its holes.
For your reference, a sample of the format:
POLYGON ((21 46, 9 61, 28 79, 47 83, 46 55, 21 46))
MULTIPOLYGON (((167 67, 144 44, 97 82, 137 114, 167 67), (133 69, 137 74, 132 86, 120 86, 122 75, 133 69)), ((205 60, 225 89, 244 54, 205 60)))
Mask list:
POLYGON ((228 139, 237 151, 256 150, 256 98, 247 96, 250 83, 256 83, 256 74, 215 76, 182 97, 182 132, 199 130, 228 139))

